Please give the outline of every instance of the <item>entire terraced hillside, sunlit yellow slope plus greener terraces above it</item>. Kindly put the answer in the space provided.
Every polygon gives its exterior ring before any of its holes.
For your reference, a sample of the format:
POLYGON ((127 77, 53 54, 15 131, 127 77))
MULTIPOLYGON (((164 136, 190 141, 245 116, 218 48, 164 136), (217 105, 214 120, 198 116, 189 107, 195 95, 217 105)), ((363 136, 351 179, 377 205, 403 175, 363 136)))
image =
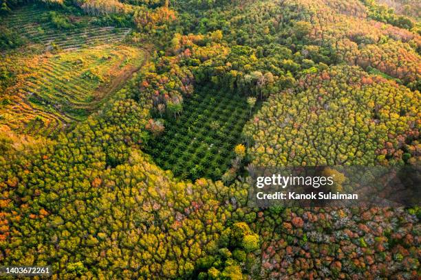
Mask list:
POLYGON ((82 27, 67 32, 39 20, 49 13, 32 5, 4 19, 26 43, 2 54, 0 69, 13 82, 0 86, 0 125, 32 135, 85 119, 144 61, 142 50, 120 42, 129 28, 96 27, 81 16, 74 24, 82 27))

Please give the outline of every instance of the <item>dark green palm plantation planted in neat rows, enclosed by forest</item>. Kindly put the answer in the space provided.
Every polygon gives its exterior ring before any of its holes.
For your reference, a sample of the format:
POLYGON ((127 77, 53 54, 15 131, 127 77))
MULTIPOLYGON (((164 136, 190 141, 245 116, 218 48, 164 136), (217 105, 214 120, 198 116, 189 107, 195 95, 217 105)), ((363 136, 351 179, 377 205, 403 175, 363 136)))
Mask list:
POLYGON ((220 179, 250 115, 246 97, 200 89, 184 100, 180 117, 166 117, 164 135, 152 139, 147 152, 180 178, 220 179))

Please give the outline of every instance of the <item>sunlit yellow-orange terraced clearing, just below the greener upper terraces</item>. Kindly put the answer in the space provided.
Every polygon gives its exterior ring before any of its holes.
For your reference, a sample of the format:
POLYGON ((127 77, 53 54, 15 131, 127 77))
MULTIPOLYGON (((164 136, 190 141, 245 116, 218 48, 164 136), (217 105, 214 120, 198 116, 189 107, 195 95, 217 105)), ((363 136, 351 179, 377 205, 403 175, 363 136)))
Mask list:
POLYGON ((69 121, 83 120, 130 78, 143 60, 143 51, 124 45, 16 58, 25 71, 6 89, 0 123, 15 129, 24 124, 34 133, 51 132, 69 121))

